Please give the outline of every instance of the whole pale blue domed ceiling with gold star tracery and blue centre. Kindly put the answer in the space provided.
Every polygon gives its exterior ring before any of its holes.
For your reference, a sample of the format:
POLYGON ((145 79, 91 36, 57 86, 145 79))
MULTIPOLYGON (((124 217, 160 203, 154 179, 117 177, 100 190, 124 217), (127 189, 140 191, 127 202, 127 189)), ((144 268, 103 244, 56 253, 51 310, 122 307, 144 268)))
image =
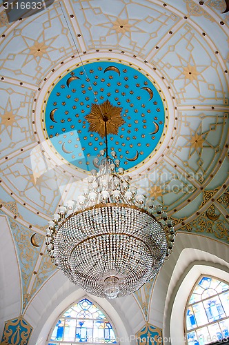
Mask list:
POLYGON ((228 243, 226 3, 46 1, 10 23, 1 5, 0 212, 21 311, 55 272, 48 220, 81 192, 104 148, 93 104, 117 116, 110 150, 175 230, 228 243))

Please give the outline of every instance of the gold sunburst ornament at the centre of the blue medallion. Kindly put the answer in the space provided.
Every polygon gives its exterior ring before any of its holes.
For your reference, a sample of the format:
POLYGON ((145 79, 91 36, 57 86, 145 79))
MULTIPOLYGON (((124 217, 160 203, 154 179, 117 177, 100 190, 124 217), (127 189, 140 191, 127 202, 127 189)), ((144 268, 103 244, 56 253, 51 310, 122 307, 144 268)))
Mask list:
POLYGON ((97 132, 102 138, 105 137, 104 121, 106 121, 107 135, 117 135, 119 127, 125 123, 125 120, 121 117, 122 110, 123 108, 112 106, 108 100, 100 105, 92 103, 90 114, 85 117, 90 124, 89 131, 97 132))

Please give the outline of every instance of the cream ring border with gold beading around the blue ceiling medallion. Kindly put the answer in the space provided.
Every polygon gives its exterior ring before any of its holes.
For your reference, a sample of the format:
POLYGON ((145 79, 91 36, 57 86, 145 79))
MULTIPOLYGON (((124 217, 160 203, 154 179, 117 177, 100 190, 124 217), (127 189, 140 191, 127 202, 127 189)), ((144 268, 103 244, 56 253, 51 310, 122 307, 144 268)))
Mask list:
MULTIPOLYGON (((159 91, 161 99, 163 99, 166 117, 163 133, 161 134, 161 140, 146 159, 144 159, 137 166, 134 166, 126 171, 133 176, 150 170, 152 165, 158 159, 160 159, 161 155, 169 147, 175 121, 177 120, 175 97, 173 97, 170 93, 170 86, 166 85, 165 79, 159 75, 157 68, 149 66, 146 61, 139 61, 139 59, 128 57, 126 55, 123 57, 123 55, 120 53, 115 52, 88 53, 83 57, 85 57, 85 59, 82 59, 83 63, 108 61, 110 63, 117 62, 126 66, 131 66, 132 68, 139 70, 139 72, 141 72, 143 75, 146 75, 146 77, 150 79, 150 81, 159 91)), ((46 159, 48 159, 48 161, 50 161, 49 164, 54 164, 54 166, 58 166, 58 168, 63 166, 63 170, 65 172, 68 172, 70 175, 74 175, 75 177, 79 177, 81 179, 84 178, 88 172, 73 166, 71 163, 66 161, 66 159, 61 157, 57 150, 54 149, 50 139, 47 137, 45 126, 45 109, 51 90, 54 88, 57 81, 79 66, 81 66, 81 59, 79 57, 71 57, 66 62, 61 61, 61 63, 59 63, 56 68, 53 68, 50 74, 43 79, 43 82, 34 96, 34 108, 32 110, 34 113, 34 119, 32 124, 34 126, 34 135, 36 136, 37 142, 42 146, 44 156, 46 159), (74 59, 74 63, 72 63, 72 59, 74 59)))

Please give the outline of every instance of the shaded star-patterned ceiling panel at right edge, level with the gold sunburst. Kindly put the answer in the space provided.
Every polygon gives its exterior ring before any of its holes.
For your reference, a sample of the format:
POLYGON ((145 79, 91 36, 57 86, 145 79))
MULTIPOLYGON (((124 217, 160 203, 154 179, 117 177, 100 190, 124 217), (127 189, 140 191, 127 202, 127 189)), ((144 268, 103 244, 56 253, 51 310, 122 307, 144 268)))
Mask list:
POLYGON ((222 157, 227 142, 224 112, 189 110, 179 113, 178 133, 171 146, 172 161, 203 184, 222 157))

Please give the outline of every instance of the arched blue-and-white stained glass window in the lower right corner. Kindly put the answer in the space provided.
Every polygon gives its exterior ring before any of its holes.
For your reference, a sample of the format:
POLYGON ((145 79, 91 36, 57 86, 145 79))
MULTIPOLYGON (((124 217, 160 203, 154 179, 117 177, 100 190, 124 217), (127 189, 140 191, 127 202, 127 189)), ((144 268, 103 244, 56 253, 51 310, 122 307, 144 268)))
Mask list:
POLYGON ((215 277, 201 277, 186 306, 188 345, 204 345, 229 338, 229 285, 215 277))

